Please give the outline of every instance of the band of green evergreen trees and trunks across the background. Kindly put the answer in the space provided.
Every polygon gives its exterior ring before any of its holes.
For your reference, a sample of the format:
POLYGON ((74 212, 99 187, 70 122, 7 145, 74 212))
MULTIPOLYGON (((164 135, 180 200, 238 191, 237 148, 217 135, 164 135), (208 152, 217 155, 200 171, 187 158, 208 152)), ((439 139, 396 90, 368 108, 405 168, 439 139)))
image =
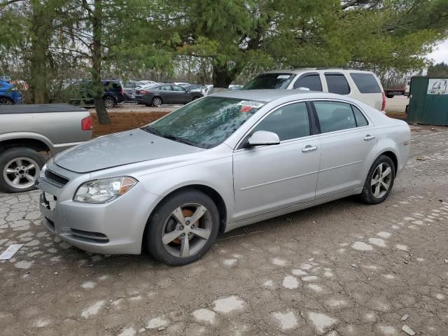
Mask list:
POLYGON ((0 76, 27 102, 58 102, 68 78, 182 79, 228 87, 260 71, 353 66, 384 85, 428 67, 447 0, 1 0, 0 76))

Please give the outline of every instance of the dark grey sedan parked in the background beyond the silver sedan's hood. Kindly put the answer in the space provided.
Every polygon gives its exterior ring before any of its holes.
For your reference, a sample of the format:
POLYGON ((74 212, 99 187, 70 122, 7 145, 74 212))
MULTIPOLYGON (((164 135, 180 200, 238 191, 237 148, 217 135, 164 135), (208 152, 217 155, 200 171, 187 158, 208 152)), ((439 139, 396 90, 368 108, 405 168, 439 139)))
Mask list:
POLYGON ((190 92, 184 87, 174 84, 161 84, 148 87, 141 94, 141 100, 146 106, 187 104, 195 99, 204 97, 201 92, 190 92))

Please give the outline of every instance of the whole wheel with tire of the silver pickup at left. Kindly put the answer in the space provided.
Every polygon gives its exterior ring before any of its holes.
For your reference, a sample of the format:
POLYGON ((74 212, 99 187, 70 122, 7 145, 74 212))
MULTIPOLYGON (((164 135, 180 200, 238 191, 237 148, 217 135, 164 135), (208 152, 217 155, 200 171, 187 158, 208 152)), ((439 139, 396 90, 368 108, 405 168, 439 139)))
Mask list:
POLYGON ((45 158, 31 148, 16 147, 4 151, 0 155, 0 189, 7 193, 34 190, 34 182, 44 164, 45 158))

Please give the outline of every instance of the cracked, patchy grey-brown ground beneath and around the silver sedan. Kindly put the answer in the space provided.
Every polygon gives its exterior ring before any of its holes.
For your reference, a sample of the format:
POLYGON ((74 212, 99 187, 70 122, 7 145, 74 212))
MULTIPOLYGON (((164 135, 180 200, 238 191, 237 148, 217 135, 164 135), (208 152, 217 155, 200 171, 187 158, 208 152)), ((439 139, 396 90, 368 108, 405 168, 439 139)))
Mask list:
POLYGON ((229 232, 202 260, 92 255, 0 195, 0 334, 448 335, 448 130, 416 129, 386 202, 354 197, 229 232), (407 329, 409 328, 409 329, 407 329))

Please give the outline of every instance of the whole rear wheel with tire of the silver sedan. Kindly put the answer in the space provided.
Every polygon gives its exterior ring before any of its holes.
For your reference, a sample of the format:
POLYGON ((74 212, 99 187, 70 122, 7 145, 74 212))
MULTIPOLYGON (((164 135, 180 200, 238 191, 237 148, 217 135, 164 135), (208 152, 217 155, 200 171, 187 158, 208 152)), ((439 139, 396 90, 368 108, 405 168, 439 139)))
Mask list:
POLYGON ((386 155, 379 155, 377 160, 373 162, 372 167, 370 167, 369 174, 367 174, 363 192, 360 194, 361 200, 367 204, 379 204, 383 202, 391 193, 394 181, 395 165, 393 161, 386 155), (379 179, 380 171, 383 176, 379 179), (384 175, 386 172, 388 174, 384 175))

